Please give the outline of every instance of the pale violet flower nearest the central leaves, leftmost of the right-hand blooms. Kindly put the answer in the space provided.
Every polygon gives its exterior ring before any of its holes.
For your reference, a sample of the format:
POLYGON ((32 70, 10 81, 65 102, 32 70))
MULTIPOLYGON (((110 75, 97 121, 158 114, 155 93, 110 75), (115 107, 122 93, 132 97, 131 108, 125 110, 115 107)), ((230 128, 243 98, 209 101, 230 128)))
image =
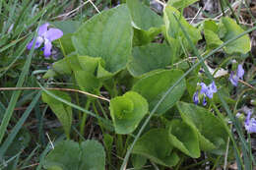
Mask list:
MULTIPOLYGON (((205 106, 207 104, 206 96, 209 98, 213 98, 214 93, 216 93, 218 89, 215 85, 215 82, 210 85, 205 85, 204 83, 200 83, 199 85, 201 86, 200 94, 203 95, 203 105, 205 106)), ((198 90, 193 95, 193 101, 195 104, 199 103, 198 90)))

